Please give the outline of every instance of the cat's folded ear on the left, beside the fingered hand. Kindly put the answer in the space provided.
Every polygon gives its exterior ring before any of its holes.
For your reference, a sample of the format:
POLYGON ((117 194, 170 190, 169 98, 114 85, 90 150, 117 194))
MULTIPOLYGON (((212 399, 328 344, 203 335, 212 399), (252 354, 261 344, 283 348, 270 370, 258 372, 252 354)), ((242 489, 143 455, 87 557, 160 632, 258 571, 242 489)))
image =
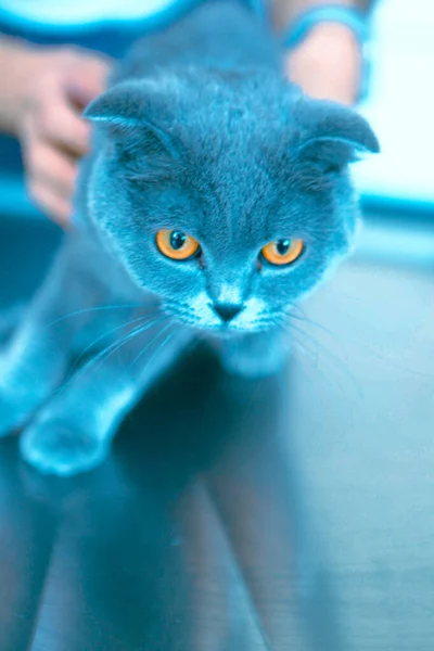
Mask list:
POLYGON ((116 142, 128 149, 140 146, 149 155, 179 158, 175 139, 157 123, 167 98, 152 80, 114 86, 84 112, 84 117, 106 128, 116 142))

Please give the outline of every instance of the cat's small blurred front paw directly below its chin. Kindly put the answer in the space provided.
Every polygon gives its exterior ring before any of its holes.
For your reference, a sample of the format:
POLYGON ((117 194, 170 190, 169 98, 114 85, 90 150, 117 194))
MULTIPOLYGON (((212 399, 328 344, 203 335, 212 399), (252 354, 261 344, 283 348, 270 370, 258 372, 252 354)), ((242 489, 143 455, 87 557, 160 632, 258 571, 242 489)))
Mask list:
POLYGON ((281 331, 258 332, 224 339, 219 356, 233 375, 265 378, 282 370, 289 356, 288 335, 281 331))

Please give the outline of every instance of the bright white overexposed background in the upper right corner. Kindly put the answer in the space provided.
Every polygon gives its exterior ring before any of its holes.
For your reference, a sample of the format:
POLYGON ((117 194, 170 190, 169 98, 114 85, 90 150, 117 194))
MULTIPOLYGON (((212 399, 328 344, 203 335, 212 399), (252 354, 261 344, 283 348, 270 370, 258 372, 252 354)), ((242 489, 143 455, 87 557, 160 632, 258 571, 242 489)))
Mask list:
POLYGON ((425 204, 433 210, 434 11, 429 0, 380 0, 373 13, 372 74, 361 106, 382 154, 358 166, 367 202, 425 204))

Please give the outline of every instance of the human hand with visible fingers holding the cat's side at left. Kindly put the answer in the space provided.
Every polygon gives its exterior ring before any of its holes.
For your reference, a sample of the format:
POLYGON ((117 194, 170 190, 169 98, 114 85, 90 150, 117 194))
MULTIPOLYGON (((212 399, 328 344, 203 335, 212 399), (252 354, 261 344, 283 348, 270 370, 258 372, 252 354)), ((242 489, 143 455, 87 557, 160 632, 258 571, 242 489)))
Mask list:
POLYGON ((22 76, 26 88, 14 118, 26 184, 39 207, 67 226, 76 164, 89 146, 90 127, 80 112, 104 90, 111 61, 73 47, 35 48, 28 55, 31 65, 22 76))

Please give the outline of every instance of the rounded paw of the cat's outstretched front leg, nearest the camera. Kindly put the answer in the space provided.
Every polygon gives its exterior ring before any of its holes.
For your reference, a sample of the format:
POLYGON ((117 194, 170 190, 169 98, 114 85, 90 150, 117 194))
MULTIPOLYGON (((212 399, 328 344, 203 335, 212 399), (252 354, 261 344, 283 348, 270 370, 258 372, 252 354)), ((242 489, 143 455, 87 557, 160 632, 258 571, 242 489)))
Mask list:
POLYGON ((94 435, 56 421, 31 425, 24 432, 20 447, 23 458, 39 472, 61 476, 95 468, 108 451, 94 435))

